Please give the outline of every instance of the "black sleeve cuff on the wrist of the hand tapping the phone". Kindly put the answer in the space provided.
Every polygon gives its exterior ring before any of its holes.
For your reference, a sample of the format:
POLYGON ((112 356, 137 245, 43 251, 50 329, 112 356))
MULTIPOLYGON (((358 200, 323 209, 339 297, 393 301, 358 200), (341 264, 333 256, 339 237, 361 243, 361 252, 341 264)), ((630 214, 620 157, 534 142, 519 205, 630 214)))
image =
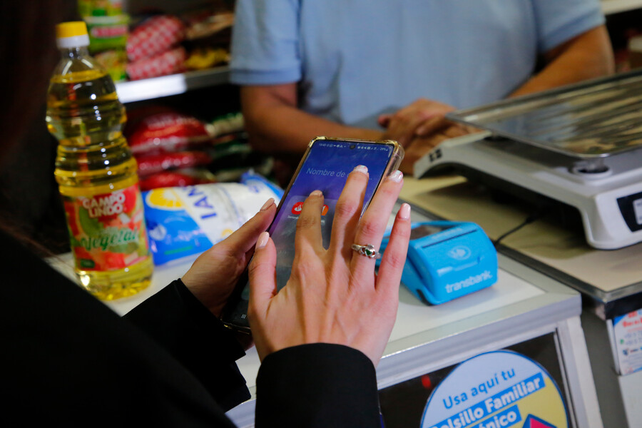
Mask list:
POLYGON ((263 360, 256 427, 381 427, 377 377, 362 352, 317 343, 263 360))

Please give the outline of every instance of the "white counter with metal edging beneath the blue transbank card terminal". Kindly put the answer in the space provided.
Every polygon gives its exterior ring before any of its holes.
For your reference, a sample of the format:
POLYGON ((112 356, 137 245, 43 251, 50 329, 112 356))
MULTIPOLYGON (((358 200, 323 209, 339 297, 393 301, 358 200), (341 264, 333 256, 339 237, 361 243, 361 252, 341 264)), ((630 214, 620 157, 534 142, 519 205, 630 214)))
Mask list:
MULTIPOLYGON (((429 218, 415 210, 412 220, 429 218)), ((190 263, 156 267, 147 290, 107 304, 122 315, 183 275, 190 263)), ((551 374, 566 401, 569 426, 602 427, 580 314, 578 292, 504 255, 495 285, 442 305, 424 305, 402 286, 397 322, 377 367, 386 427, 421 426, 427 398, 444 370, 504 349, 530 357, 551 374), (425 385, 429 378, 431 388, 425 385)), ((238 361, 253 397, 228 412, 239 427, 253 425, 259 365, 254 349, 238 361)))

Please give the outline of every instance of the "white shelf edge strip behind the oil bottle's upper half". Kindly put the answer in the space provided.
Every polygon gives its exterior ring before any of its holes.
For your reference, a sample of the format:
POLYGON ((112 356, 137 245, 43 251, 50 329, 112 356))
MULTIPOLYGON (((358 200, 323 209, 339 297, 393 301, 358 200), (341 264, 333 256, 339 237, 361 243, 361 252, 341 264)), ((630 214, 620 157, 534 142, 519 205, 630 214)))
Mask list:
POLYGON ((161 98, 178 95, 191 89, 228 83, 230 71, 228 67, 216 67, 201 71, 172 74, 139 81, 116 83, 116 93, 121 103, 161 98))

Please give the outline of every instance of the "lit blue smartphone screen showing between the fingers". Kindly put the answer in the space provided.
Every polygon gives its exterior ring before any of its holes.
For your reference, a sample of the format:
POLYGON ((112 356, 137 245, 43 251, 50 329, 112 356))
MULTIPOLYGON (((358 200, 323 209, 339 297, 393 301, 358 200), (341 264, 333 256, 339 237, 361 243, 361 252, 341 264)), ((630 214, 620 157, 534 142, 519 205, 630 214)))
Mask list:
POLYGON ((281 204, 279 213, 268 230, 277 250, 277 289, 290 278, 295 253, 296 224, 303 201, 313 190, 321 190, 324 206, 321 211, 321 235, 327 248, 332 233, 332 219, 335 205, 343 190, 348 174, 357 165, 368 168, 368 180, 364 209, 370 202, 374 190, 392 155, 393 147, 388 144, 355 143, 350 141, 317 141, 312 145, 299 174, 281 204))

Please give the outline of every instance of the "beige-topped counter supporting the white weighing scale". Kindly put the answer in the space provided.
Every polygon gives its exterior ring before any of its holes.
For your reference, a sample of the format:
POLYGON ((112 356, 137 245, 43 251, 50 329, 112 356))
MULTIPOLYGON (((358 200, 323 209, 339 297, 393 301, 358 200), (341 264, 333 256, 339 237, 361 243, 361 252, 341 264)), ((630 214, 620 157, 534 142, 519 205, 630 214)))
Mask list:
MULTIPOLYGON (((495 193, 462 177, 404 181, 400 198, 414 210, 434 218, 474 221, 492 239, 533 214, 524 205, 498 202, 495 193)), ((595 250, 586 244, 581 228, 564 227, 544 215, 506 235, 497 248, 521 265, 582 293, 581 320, 603 423, 638 427, 642 420, 642 311, 638 311, 642 308, 642 244, 595 250)))

